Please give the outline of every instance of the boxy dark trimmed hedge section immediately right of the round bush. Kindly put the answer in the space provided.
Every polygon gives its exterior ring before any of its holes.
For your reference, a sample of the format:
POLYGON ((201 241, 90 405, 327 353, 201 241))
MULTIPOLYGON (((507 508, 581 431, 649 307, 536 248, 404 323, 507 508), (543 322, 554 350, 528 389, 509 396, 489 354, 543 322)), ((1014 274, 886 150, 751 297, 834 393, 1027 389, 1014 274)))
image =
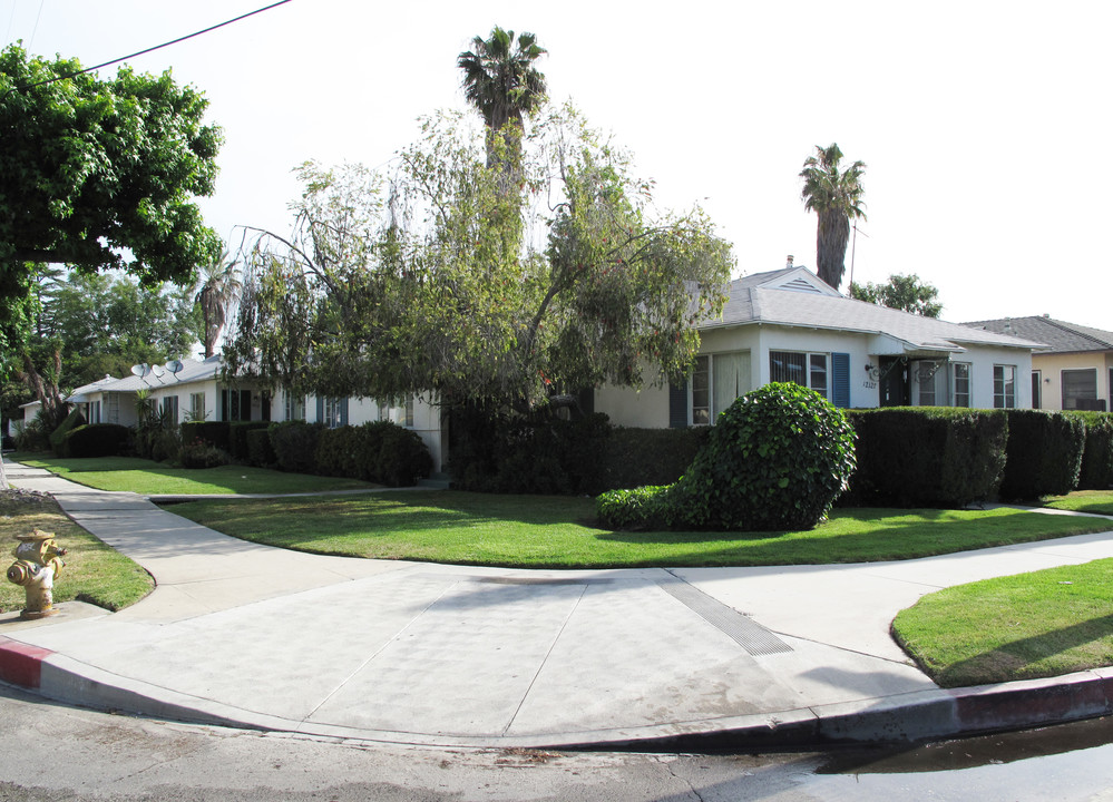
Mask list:
POLYGON ((996 497, 1008 439, 1003 411, 891 407, 849 419, 858 470, 840 506, 946 509, 996 497))

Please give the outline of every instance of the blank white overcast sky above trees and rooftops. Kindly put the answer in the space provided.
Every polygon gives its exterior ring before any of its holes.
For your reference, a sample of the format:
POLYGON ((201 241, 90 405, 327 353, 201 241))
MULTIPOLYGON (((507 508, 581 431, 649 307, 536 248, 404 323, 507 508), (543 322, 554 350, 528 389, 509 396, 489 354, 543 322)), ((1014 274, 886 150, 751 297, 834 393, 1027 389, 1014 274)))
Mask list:
MULTIPOLYGON (((0 0, 0 27, 92 66, 266 4, 0 0)), ((843 290, 851 267, 916 274, 945 320, 1113 330, 1113 193, 1093 173, 1113 143, 1107 0, 291 0, 129 63, 209 99, 225 145, 201 207, 238 243, 289 233, 303 162, 385 165, 420 116, 466 108, 456 58, 496 25, 537 36, 549 97, 633 151, 662 209, 704 207, 736 275, 814 268, 799 173, 834 141, 867 165, 843 290)))

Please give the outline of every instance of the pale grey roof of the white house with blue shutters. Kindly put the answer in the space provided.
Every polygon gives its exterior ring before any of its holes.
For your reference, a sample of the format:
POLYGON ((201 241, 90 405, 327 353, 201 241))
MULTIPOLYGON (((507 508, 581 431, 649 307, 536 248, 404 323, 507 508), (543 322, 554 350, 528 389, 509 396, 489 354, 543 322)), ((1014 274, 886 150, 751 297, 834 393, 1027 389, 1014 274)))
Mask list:
POLYGON ((887 335, 904 343, 906 351, 960 352, 966 345, 1042 348, 1038 341, 846 297, 806 267, 785 267, 731 282, 722 316, 700 329, 753 324, 887 335))

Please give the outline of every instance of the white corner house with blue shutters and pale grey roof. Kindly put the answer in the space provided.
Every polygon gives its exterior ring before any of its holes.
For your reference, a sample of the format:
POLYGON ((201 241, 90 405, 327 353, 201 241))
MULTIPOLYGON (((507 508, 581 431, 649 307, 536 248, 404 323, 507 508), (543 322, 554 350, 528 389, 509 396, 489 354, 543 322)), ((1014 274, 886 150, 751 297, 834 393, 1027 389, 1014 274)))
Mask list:
POLYGON ((595 391, 594 411, 619 426, 711 423, 734 399, 793 381, 837 407, 1031 405, 1039 344, 840 295, 806 267, 735 280, 683 387, 595 391))

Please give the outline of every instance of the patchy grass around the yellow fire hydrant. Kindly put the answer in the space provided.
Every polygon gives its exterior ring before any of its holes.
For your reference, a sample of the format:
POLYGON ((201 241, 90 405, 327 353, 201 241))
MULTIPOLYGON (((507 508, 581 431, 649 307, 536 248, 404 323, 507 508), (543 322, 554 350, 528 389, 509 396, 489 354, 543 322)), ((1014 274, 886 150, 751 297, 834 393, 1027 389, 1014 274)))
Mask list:
MULTIPOLYGON (((147 571, 74 524, 53 499, 0 491, 0 542, 14 549, 16 536, 29 535, 35 528, 53 532, 58 545, 69 551, 62 557, 66 565, 55 581, 56 604, 78 599, 118 610, 154 589, 155 583, 147 571)), ((4 555, 8 554, 6 550, 4 555)), ((11 564, 6 564, 6 569, 8 565, 11 564)), ((20 610, 25 603, 23 588, 7 581, 0 585, 0 612, 20 610)))

